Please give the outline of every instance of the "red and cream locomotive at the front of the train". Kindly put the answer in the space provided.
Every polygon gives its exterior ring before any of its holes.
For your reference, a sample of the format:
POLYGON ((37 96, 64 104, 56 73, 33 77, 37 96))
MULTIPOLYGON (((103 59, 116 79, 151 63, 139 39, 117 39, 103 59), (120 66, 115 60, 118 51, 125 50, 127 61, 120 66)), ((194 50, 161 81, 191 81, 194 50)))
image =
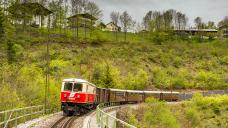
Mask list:
POLYGON ((65 115, 80 114, 95 107, 96 86, 82 79, 64 79, 61 89, 65 115), (77 112, 77 113, 75 113, 77 112))

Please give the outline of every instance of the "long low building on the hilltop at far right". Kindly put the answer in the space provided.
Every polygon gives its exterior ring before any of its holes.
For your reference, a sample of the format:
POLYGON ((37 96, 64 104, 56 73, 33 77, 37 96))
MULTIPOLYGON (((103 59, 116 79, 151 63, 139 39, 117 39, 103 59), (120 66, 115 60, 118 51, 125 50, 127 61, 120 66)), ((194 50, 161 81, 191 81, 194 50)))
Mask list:
POLYGON ((218 30, 216 29, 182 29, 182 30, 174 30, 176 34, 187 34, 191 38, 191 36, 200 35, 202 37, 217 37, 218 30))

